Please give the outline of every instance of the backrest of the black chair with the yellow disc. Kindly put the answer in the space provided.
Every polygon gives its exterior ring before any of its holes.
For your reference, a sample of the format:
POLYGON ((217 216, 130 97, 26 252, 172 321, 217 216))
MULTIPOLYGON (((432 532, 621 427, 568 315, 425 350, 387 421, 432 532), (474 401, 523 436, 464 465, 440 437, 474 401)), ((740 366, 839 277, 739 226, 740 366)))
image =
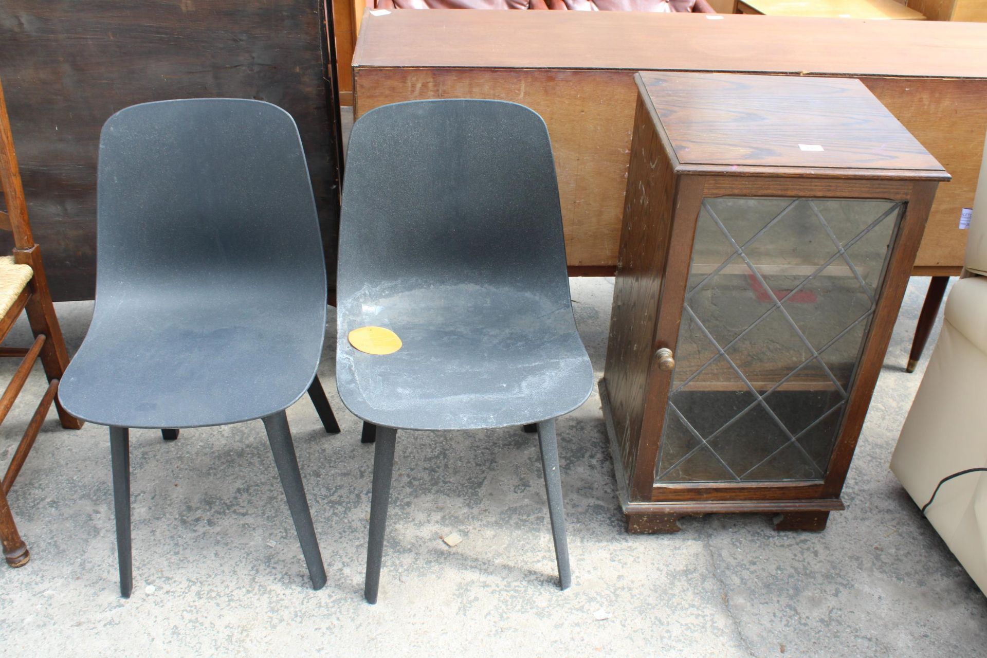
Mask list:
POLYGON ((559 186, 533 110, 479 100, 371 110, 346 155, 338 293, 432 284, 527 290, 569 306, 559 186))

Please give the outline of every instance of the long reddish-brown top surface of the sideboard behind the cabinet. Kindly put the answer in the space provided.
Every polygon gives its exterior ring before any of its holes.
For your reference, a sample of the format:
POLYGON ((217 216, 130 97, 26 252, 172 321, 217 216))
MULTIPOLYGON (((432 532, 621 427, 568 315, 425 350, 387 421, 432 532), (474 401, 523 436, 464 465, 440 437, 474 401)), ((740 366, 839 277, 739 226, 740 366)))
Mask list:
POLYGON ((710 16, 368 13, 353 66, 987 78, 987 23, 710 16))

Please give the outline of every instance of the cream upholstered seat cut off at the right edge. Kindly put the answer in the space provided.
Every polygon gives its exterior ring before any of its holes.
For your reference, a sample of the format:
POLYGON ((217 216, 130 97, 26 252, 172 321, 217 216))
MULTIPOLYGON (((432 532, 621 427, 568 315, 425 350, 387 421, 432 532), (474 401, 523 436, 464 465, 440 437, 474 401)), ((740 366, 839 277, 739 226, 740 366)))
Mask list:
MULTIPOLYGON (((920 507, 944 477, 987 467, 987 148, 969 231, 963 278, 949 292, 943 331, 891 457, 920 507)), ((987 593, 987 473, 944 483, 926 516, 987 593)))

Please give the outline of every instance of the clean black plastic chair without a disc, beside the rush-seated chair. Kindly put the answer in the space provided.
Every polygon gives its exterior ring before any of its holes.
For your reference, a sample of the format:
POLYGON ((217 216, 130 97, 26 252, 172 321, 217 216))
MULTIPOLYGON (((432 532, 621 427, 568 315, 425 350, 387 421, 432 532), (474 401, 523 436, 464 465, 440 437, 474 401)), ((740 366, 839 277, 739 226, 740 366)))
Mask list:
POLYGON ((326 570, 284 409, 316 377, 326 270, 298 129, 268 103, 163 101, 100 138, 96 307, 58 391, 110 425, 120 593, 130 595, 128 428, 263 418, 315 589, 326 570))

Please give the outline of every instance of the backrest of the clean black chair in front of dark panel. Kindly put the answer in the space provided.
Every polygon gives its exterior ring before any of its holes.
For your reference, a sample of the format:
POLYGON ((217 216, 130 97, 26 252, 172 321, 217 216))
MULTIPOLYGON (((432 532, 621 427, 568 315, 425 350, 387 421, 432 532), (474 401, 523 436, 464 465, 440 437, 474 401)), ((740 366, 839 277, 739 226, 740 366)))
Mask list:
POLYGON ((97 313, 149 290, 183 303, 326 300, 322 238, 294 120, 190 99, 116 112, 100 137, 97 313))

